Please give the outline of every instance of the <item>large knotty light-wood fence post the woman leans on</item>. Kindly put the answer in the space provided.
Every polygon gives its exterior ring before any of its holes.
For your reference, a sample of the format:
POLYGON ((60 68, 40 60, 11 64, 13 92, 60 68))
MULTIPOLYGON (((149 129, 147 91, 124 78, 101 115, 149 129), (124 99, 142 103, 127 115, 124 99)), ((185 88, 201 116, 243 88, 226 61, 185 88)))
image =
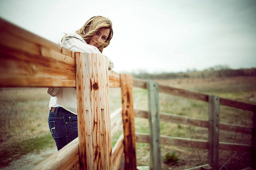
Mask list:
POLYGON ((79 52, 75 57, 80 169, 112 170, 108 60, 79 52))

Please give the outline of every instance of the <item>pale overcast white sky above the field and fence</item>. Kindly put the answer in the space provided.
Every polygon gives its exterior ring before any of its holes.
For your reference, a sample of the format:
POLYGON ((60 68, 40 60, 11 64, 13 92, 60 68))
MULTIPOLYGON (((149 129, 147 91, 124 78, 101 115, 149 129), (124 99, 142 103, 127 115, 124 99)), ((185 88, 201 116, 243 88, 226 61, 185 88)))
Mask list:
POLYGON ((116 72, 256 67, 255 0, 0 0, 1 18, 56 43, 96 15, 116 72))

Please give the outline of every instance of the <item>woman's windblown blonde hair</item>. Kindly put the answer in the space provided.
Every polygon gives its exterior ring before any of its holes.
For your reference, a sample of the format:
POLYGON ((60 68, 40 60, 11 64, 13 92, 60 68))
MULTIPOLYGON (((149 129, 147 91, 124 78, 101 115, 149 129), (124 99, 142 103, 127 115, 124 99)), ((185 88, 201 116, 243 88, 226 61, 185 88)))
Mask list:
POLYGON ((101 28, 109 28, 109 35, 106 41, 97 41, 97 43, 101 44, 98 49, 102 53, 103 48, 106 48, 109 45, 109 42, 113 36, 112 22, 108 18, 102 16, 92 17, 84 24, 84 26, 77 30, 76 33, 83 37, 84 41, 89 43, 92 36, 95 35, 101 28))

